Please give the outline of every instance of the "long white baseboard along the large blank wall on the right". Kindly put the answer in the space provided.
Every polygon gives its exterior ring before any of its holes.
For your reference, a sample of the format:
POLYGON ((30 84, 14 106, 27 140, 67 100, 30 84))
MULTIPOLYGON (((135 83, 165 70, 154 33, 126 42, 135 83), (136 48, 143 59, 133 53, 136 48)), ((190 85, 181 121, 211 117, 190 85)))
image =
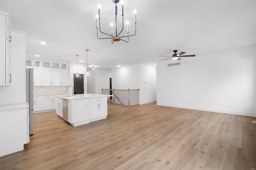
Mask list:
POLYGON ((199 110, 199 111, 210 111, 210 112, 226 113, 226 114, 232 114, 232 115, 256 117, 256 113, 247 113, 247 112, 238 112, 238 111, 227 111, 227 110, 211 109, 211 108, 204 108, 204 107, 191 107, 191 106, 170 105, 170 104, 167 104, 167 103, 156 103, 156 105, 168 106, 168 107, 178 107, 178 108, 182 108, 182 109, 192 109, 192 110, 199 110))

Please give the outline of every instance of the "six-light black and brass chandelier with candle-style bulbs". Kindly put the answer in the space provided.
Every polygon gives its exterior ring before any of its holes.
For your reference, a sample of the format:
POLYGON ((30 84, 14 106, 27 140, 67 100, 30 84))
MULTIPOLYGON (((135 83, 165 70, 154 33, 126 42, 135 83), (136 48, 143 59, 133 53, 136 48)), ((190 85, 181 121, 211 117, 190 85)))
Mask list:
MULTIPOLYGON (((115 4, 117 4, 119 2, 119 0, 112 0, 112 2, 114 2, 115 4)), ((127 24, 127 36, 120 36, 119 35, 121 34, 121 32, 124 30, 124 2, 122 1, 121 2, 122 4, 122 30, 119 32, 117 32, 117 24, 116 24, 116 34, 113 35, 113 23, 111 22, 110 24, 110 27, 111 27, 111 35, 110 34, 106 34, 104 32, 102 32, 100 30, 100 4, 98 5, 98 8, 99 8, 99 13, 96 15, 96 28, 97 28, 97 38, 98 39, 111 39, 111 42, 114 43, 114 42, 119 42, 120 40, 124 41, 124 42, 129 42, 129 37, 131 36, 135 36, 136 34, 136 10, 134 10, 134 23, 135 23, 135 34, 134 35, 130 35, 129 36, 129 22, 127 21, 126 24, 127 24), (98 20, 99 20, 99 24, 98 24, 98 20), (100 32, 102 34, 105 34, 107 36, 109 36, 108 38, 99 38, 98 37, 98 28, 100 30, 100 32), (123 38, 126 38, 127 37, 127 40, 123 40, 123 38)), ((118 8, 116 6, 116 16, 117 16, 117 12, 118 12, 118 8)))

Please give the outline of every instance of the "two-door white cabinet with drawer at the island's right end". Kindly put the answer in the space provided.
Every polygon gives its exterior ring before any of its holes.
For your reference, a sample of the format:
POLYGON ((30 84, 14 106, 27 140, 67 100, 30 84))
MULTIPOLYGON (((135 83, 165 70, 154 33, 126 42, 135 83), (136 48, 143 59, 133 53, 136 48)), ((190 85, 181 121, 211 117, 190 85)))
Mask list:
POLYGON ((107 98, 90 99, 90 122, 108 115, 107 98))

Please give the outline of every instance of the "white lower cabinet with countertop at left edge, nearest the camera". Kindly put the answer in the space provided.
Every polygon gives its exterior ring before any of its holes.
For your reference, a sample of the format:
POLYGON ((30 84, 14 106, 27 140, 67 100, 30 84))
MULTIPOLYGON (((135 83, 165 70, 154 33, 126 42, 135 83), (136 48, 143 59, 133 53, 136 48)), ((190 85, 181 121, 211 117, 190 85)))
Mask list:
POLYGON ((29 142, 27 103, 0 105, 0 156, 24 150, 29 142))

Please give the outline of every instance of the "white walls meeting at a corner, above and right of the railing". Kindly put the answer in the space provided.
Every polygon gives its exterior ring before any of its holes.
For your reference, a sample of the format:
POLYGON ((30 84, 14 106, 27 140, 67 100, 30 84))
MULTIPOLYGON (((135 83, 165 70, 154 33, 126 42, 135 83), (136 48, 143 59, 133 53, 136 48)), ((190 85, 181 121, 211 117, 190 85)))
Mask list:
POLYGON ((112 69, 113 88, 140 89, 140 104, 155 102, 156 66, 135 64, 112 69))

